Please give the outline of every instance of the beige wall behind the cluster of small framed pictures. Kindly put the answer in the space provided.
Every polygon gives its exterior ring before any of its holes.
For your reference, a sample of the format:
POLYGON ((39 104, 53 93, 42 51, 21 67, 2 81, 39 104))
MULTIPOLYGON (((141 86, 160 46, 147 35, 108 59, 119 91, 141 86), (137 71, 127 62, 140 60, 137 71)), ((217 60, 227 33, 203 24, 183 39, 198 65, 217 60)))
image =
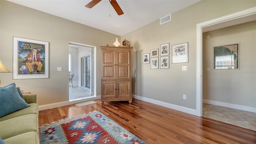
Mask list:
POLYGON ((134 46, 132 94, 196 109, 196 24, 254 6, 256 1, 252 0, 203 0, 173 13, 170 22, 160 25, 156 20, 121 36, 121 40, 126 38, 134 46), (171 48, 185 42, 188 42, 188 63, 172 64, 170 60, 169 69, 151 69, 150 64, 142 64, 142 54, 160 48, 160 44, 170 43, 171 48), (187 71, 182 71, 182 66, 187 66, 187 71))

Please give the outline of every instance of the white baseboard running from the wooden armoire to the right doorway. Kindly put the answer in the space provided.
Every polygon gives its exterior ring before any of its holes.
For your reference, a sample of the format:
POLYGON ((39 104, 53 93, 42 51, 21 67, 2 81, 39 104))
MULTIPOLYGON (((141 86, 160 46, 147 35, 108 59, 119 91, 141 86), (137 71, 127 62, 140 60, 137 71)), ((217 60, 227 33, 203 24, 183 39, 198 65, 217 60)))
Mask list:
POLYGON ((178 106, 178 105, 175 105, 175 104, 169 104, 167 102, 162 102, 162 101, 154 100, 154 99, 151 99, 151 98, 145 98, 145 97, 142 97, 142 96, 136 96, 134 94, 132 94, 132 98, 142 100, 142 101, 145 101, 145 102, 150 102, 152 104, 157 104, 159 106, 164 106, 166 108, 171 108, 171 109, 178 110, 178 111, 181 111, 181 112, 186 112, 188 114, 196 115, 196 110, 191 109, 191 108, 186 108, 186 107, 178 106))

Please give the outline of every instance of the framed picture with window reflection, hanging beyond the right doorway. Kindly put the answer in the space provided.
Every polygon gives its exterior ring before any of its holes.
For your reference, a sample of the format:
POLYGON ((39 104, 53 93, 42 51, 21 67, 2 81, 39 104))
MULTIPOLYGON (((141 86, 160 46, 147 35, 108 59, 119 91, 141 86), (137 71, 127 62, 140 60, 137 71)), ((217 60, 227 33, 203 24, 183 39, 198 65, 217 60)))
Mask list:
POLYGON ((214 69, 239 69, 239 43, 214 46, 214 69))

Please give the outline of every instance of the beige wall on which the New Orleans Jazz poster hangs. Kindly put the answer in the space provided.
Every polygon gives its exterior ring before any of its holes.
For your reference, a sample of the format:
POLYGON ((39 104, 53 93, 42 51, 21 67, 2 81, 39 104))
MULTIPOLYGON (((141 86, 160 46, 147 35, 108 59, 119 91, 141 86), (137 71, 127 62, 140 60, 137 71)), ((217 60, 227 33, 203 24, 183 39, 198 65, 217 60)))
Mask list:
POLYGON ((0 60, 8 69, 12 70, 13 36, 50 43, 50 78, 13 80, 12 73, 1 73, 1 86, 15 82, 25 92, 37 93, 39 105, 68 101, 68 44, 76 42, 96 46, 96 95, 100 95, 100 46, 112 45, 120 36, 12 2, 0 0, 0 4, 0 60))

